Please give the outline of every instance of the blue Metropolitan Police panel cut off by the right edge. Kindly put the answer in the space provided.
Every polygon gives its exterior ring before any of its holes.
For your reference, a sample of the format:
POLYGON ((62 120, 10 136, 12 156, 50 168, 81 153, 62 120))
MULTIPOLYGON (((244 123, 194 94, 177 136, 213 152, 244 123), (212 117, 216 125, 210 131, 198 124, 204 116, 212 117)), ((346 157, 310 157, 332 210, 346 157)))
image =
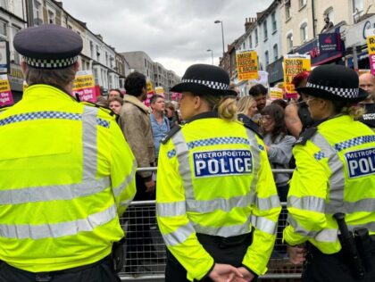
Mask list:
POLYGON ((375 174, 375 149, 345 154, 349 178, 375 174))

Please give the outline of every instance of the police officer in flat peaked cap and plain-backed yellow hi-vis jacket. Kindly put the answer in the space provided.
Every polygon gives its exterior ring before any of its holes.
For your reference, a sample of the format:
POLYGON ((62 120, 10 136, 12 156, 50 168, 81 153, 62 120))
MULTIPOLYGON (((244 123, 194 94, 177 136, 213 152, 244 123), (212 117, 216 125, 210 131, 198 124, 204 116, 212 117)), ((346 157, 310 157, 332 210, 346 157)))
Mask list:
POLYGON ((137 164, 114 118, 71 96, 82 39, 45 25, 14 47, 29 87, 0 113, 0 281, 120 281, 137 164))

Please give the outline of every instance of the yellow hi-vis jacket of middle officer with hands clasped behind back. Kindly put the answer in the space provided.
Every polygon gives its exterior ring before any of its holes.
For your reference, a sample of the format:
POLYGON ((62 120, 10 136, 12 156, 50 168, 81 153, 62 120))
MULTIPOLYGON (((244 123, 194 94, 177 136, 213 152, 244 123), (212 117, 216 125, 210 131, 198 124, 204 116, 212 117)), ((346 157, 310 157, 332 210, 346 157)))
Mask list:
POLYGON ((254 241, 243 264, 258 275, 265 273, 280 206, 262 140, 238 121, 197 117, 164 143, 157 220, 187 279, 204 278, 214 263, 196 233, 229 237, 252 227, 254 241))

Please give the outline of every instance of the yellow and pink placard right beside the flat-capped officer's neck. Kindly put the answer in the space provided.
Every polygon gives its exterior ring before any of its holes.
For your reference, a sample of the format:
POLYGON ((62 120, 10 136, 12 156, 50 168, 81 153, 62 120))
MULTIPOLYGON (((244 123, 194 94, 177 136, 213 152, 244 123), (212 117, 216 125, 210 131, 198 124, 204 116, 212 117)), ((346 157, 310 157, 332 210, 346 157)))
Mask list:
POLYGON ((95 79, 92 71, 77 71, 72 95, 79 95, 80 101, 96 102, 95 79))

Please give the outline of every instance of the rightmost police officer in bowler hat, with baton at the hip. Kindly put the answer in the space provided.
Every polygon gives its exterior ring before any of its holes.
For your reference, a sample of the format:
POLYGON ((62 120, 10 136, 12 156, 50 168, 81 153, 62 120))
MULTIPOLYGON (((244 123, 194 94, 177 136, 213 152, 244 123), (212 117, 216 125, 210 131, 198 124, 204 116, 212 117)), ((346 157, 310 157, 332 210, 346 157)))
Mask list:
POLYGON ((296 141, 284 239, 303 281, 375 281, 375 135, 356 106, 355 71, 323 65, 305 95, 316 123, 296 141))

